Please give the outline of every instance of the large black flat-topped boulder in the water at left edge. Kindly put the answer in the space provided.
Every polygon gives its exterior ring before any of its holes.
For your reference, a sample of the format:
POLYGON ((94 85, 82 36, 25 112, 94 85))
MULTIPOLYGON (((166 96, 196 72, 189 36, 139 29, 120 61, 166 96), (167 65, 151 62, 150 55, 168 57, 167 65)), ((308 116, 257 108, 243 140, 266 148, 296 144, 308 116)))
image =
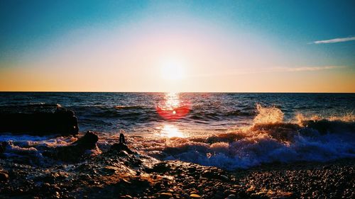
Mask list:
POLYGON ((58 104, 0 106, 0 133, 77 135, 77 117, 58 104))

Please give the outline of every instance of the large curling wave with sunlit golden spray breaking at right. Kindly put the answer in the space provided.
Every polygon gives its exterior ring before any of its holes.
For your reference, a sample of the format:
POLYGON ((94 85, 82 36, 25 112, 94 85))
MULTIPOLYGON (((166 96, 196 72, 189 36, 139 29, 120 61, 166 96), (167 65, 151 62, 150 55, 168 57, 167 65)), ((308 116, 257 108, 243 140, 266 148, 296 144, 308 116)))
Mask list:
POLYGON ((354 115, 306 118, 285 122, 276 107, 257 105, 253 124, 232 132, 200 137, 134 140, 138 150, 153 157, 194 162, 222 169, 246 169, 260 164, 330 161, 355 158, 354 115), (149 143, 148 145, 144 142, 149 143))

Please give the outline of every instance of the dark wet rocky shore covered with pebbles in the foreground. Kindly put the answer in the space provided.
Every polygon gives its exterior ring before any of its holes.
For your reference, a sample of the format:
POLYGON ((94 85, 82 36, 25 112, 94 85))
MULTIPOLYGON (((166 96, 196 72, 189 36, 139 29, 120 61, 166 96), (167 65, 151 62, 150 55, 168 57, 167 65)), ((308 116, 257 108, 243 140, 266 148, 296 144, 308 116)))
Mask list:
POLYGON ((46 149, 52 164, 1 156, 0 198, 355 198, 355 159, 224 171, 159 161, 124 143, 85 154, 95 142, 97 135, 87 132, 68 146, 46 149))

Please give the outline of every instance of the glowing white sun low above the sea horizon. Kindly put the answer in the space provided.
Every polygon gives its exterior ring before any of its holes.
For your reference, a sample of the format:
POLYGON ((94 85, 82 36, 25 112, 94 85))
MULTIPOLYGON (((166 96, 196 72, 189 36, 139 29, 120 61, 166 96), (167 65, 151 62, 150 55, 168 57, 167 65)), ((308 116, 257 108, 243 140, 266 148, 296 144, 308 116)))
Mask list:
POLYGON ((161 76, 163 79, 174 81, 185 77, 184 64, 174 59, 168 59, 162 62, 161 76))

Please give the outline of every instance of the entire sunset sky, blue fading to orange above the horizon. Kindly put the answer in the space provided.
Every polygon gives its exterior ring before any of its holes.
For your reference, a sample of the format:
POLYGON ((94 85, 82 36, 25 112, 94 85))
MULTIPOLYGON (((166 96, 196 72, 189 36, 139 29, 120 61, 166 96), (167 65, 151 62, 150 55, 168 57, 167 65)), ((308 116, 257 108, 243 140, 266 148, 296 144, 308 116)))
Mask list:
POLYGON ((355 92, 354 9, 0 0, 0 91, 355 92))

